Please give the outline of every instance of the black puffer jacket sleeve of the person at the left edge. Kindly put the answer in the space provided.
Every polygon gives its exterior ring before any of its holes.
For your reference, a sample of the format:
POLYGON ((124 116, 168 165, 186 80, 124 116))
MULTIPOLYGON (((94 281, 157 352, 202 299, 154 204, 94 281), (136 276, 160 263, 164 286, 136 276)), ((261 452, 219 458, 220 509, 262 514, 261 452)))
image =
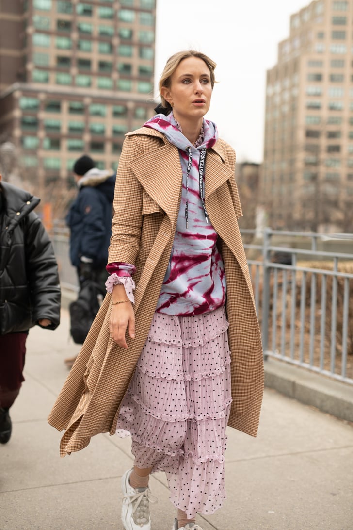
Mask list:
POLYGON ((61 298, 58 264, 49 235, 34 213, 28 216, 24 237, 33 322, 49 319, 52 324, 46 329, 56 329, 61 298))

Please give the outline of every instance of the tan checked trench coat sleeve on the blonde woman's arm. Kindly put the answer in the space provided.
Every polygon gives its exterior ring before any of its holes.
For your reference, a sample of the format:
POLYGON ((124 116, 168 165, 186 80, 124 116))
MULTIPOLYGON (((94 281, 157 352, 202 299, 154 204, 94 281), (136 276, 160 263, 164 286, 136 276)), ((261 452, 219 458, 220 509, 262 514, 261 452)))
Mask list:
POLYGON ((142 226, 142 186, 130 167, 130 162, 142 155, 136 136, 124 140, 117 169, 112 237, 108 263, 135 263, 140 249, 142 226))

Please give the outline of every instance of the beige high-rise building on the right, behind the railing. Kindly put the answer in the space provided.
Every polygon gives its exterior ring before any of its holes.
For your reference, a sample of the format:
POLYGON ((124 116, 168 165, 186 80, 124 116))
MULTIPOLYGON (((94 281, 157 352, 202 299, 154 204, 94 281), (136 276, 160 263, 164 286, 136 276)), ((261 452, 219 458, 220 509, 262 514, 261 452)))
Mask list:
POLYGON ((267 72, 268 224, 353 232, 353 2, 311 2, 290 28, 267 72))

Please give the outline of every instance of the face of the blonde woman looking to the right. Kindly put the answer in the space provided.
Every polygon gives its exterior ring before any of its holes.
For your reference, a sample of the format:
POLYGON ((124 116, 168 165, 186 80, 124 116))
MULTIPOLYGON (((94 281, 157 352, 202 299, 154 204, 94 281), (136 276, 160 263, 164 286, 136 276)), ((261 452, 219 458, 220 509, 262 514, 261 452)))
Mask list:
POLYGON ((162 96, 174 105, 177 121, 201 119, 210 108, 211 95, 210 70, 198 57, 183 59, 171 76, 169 89, 162 87, 162 96))

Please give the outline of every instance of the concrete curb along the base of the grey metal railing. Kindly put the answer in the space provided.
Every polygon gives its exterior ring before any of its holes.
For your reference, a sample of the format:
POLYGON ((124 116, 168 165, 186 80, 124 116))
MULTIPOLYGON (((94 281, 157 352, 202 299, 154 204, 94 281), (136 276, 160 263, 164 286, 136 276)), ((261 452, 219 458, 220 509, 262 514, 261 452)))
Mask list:
MULTIPOLYGON (((61 288, 61 307, 68 309, 75 291, 61 288)), ((285 361, 265 360, 265 386, 341 420, 353 422, 353 386, 285 361)))

